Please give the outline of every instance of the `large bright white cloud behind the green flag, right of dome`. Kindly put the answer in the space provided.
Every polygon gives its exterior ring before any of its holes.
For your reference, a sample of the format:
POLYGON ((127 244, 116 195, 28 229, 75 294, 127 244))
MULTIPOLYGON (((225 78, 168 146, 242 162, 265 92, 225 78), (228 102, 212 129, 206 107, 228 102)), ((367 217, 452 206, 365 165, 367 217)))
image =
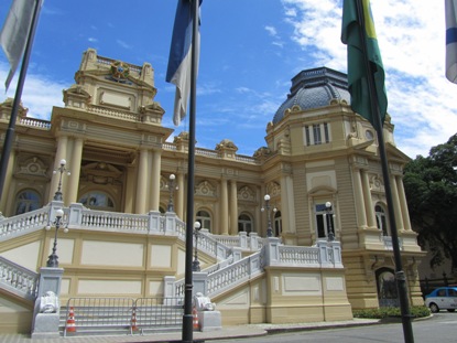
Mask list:
MULTIPOLYGON (((341 3, 330 0, 282 0, 293 40, 317 61, 316 66, 346 72, 340 42, 341 3)), ((410 157, 457 131, 456 85, 444 76, 444 1, 371 1, 387 73, 389 112, 398 147, 410 157)))

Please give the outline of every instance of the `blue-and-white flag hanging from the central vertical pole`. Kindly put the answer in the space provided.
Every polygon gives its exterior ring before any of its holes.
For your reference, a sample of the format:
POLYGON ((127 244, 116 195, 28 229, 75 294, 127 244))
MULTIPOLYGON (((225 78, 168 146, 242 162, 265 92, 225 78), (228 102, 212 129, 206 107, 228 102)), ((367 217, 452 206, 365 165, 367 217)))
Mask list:
MULTIPOLYGON (((197 0, 194 0, 197 1, 197 0)), ((202 0, 199 0, 202 2, 202 0)), ((195 40, 192 37, 192 1, 178 0, 172 45, 170 47, 166 82, 176 86, 173 122, 178 126, 186 116, 187 101, 191 93, 192 45, 196 44, 197 63, 199 56, 199 32, 195 40)), ((197 71, 196 71, 197 72, 197 71)))

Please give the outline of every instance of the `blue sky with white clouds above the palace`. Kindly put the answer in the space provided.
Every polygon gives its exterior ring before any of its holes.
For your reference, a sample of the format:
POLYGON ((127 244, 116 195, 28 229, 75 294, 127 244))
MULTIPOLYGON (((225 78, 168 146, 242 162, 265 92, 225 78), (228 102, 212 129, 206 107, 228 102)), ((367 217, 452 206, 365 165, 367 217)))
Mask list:
MULTIPOLYGON (((174 86, 165 83, 176 0, 45 0, 22 101, 29 116, 48 119, 63 106, 83 52, 155 71, 155 100, 173 136, 174 86)), ((11 0, 0 0, 2 24, 11 0)), ((197 86, 197 147, 232 140, 238 153, 265 146, 266 124, 285 100, 291 78, 306 68, 347 71, 340 42, 342 0, 204 0, 197 86)), ((411 158, 457 131, 457 85, 445 78, 444 0, 371 0, 387 72, 388 111, 396 146, 411 158)), ((0 54, 0 100, 9 65, 0 54)), ((19 71, 17 72, 17 76, 19 71)))

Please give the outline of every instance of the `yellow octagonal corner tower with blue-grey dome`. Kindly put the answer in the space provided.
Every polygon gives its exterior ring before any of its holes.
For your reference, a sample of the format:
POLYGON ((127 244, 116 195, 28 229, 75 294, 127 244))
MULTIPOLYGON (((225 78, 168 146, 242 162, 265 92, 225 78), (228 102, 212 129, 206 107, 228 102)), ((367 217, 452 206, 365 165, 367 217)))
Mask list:
MULTIPOLYGON (((411 261, 422 255, 402 180, 409 158, 395 147, 393 128, 387 116, 383 135, 395 221, 411 299, 418 303, 416 265, 411 261)), ((390 285, 394 266, 377 135, 368 120, 351 110, 347 76, 327 67, 297 74, 266 133, 268 147, 258 156, 263 152, 265 189, 274 190, 283 242, 304 246, 319 239, 341 242, 352 307, 396 301, 396 294, 378 292, 390 285), (366 294, 360 292, 360 280, 367 285, 366 294)))

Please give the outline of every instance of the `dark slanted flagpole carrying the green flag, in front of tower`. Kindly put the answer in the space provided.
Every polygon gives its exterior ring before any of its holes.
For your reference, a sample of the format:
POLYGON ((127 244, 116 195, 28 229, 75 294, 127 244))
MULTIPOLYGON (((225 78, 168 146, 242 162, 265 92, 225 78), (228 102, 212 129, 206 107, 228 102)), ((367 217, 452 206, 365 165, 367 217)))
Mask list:
POLYGON ((391 227, 391 235, 392 235, 392 247, 393 247, 393 255, 395 260, 395 280, 396 280, 396 289, 399 291, 400 298, 400 310, 402 314, 402 324, 403 324, 403 335, 405 343, 414 343, 414 335, 413 335, 413 328, 411 325, 411 314, 410 314, 410 304, 407 299, 407 290, 406 290, 406 278, 402 267, 402 258, 400 254, 400 246, 399 246, 399 235, 396 232, 396 223, 395 223, 395 213, 392 203, 392 190, 390 184, 390 173, 388 167, 388 158, 385 152, 385 143, 383 137, 383 129, 381 122, 381 115, 379 112, 379 104, 378 104, 378 96, 374 88, 374 81, 373 74, 371 71, 370 61, 368 60, 367 54, 367 40, 364 36, 364 18, 363 18, 363 7, 361 0, 356 0, 357 6, 357 15, 360 23, 360 40, 361 45, 363 49, 363 62, 364 67, 367 71, 367 82, 368 88, 370 93, 370 105, 371 105, 371 114, 374 124, 374 130, 377 131, 378 142, 379 142, 379 152, 381 157, 381 165, 382 165, 382 175, 384 179, 384 189, 385 189, 385 199, 388 203, 388 213, 389 213, 389 224, 391 227))

